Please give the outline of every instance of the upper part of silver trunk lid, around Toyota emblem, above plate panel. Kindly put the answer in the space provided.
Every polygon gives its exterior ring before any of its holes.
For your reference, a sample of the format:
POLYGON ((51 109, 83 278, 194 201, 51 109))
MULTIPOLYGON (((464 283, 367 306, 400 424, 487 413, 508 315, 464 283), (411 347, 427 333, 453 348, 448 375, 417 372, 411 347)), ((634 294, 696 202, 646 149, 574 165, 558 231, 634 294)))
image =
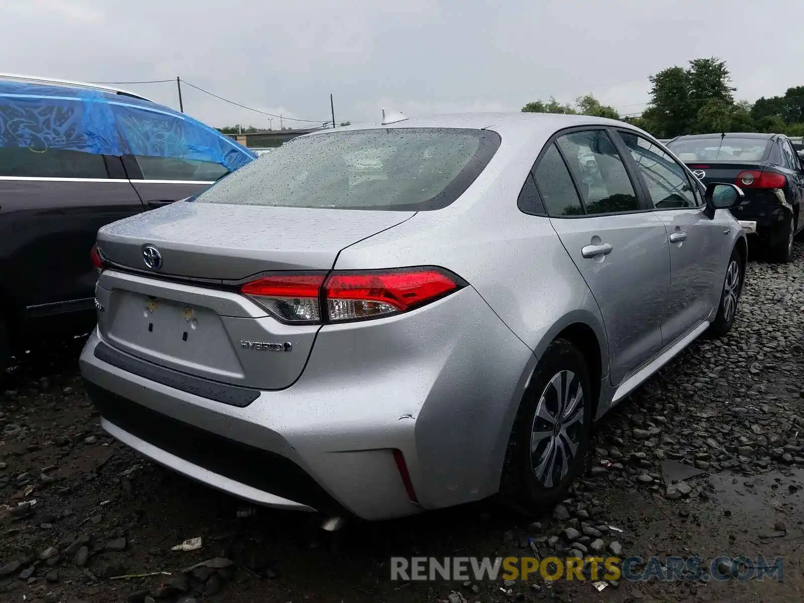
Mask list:
POLYGON ((236 281, 330 269, 341 249, 414 213, 178 201, 101 228, 98 248, 114 264, 146 270, 142 250, 154 245, 162 256, 154 275, 236 281))

